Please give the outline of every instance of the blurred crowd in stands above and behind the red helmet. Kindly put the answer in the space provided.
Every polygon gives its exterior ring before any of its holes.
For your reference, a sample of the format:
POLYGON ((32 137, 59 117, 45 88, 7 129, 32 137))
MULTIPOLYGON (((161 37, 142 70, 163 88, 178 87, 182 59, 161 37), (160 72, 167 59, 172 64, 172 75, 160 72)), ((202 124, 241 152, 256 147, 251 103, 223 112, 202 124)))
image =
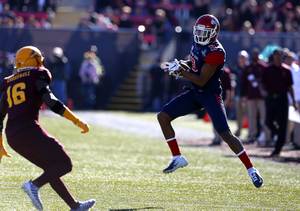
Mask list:
POLYGON ((189 27, 205 13, 218 17, 225 31, 300 30, 300 2, 296 0, 95 0, 94 12, 83 22, 112 29, 144 25, 153 31, 153 25, 189 27))

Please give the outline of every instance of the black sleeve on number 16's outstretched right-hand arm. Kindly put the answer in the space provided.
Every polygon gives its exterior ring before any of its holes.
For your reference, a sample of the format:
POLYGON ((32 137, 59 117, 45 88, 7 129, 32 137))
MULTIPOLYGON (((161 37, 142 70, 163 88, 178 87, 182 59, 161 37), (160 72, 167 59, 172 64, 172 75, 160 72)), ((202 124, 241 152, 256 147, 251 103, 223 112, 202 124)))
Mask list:
POLYGON ((42 97, 43 102, 54 112, 63 115, 65 111, 64 104, 58 100, 49 88, 49 84, 42 79, 36 81, 36 88, 42 97))

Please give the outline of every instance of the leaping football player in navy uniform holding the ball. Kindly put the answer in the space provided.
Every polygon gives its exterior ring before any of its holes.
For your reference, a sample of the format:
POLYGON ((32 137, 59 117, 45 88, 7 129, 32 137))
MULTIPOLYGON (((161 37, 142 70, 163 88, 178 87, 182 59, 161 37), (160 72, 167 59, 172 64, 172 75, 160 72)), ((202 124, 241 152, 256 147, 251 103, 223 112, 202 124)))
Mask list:
POLYGON ((226 53, 217 40, 219 32, 218 19, 210 14, 202 15, 196 20, 193 28, 194 42, 189 59, 186 61, 175 59, 174 62, 166 62, 162 65, 169 74, 183 77, 191 82, 189 90, 164 105, 162 111, 157 115, 158 122, 173 155, 171 162, 163 172, 171 173, 188 165, 188 161, 180 153, 175 132, 171 125, 172 120, 204 107, 218 134, 239 157, 248 170, 248 175, 253 184, 259 188, 263 185, 263 179, 258 170, 253 167, 241 141, 232 134, 227 123, 220 82, 226 53))

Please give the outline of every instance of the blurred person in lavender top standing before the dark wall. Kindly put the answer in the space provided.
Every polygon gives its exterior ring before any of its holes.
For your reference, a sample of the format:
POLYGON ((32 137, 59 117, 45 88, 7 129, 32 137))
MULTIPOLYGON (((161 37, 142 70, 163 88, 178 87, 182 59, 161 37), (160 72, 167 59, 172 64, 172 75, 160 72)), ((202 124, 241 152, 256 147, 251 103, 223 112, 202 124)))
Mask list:
POLYGON ((99 63, 95 49, 84 53, 84 60, 79 70, 82 82, 83 106, 85 109, 94 109, 96 105, 96 90, 100 77, 103 75, 103 67, 99 63))

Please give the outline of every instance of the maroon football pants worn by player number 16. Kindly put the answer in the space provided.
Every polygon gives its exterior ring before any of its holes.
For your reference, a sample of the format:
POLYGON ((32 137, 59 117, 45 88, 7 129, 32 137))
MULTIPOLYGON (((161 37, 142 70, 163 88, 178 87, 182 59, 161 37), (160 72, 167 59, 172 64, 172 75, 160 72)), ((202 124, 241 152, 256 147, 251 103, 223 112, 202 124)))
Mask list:
POLYGON ((34 124, 13 135, 7 134, 7 142, 18 154, 44 170, 32 181, 37 187, 49 183, 71 208, 77 205, 60 179, 72 170, 72 162, 55 138, 34 124))

